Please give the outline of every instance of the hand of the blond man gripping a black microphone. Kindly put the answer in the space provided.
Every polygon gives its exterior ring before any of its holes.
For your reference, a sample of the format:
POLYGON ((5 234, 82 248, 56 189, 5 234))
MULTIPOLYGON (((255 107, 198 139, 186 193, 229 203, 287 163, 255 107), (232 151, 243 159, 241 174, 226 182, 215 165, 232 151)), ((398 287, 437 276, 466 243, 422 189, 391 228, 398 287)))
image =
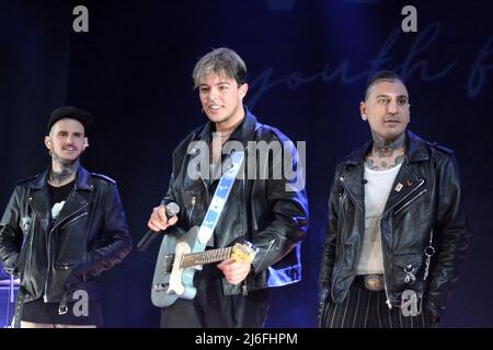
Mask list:
POLYGON ((159 235, 160 231, 164 231, 168 226, 174 225, 177 221, 176 214, 180 212, 180 206, 174 201, 169 202, 165 207, 159 206, 152 210, 149 219, 149 230, 142 240, 137 244, 137 249, 141 253, 146 250, 152 241, 159 235))

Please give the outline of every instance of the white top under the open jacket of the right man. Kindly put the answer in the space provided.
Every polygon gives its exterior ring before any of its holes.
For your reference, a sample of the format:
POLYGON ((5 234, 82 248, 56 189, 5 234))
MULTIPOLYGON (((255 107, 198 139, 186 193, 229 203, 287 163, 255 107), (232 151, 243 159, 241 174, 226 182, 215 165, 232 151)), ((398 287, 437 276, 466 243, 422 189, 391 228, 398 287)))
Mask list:
POLYGON ((401 165, 386 171, 372 171, 365 165, 365 236, 357 275, 383 273, 380 217, 401 165))

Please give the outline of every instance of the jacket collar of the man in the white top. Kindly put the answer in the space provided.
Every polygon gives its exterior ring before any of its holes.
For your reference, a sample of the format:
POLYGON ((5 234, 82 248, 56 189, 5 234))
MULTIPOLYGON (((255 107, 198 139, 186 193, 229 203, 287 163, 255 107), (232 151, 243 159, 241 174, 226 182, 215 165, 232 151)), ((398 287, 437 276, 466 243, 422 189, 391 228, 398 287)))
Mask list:
MULTIPOLYGON (((406 130, 405 131, 408 150, 406 150, 406 163, 415 163, 423 162, 429 159, 429 150, 426 147, 426 142, 420 138, 414 132, 406 130)), ((359 149, 351 153, 348 156, 346 164, 347 165, 357 165, 362 162, 366 154, 371 150, 374 145, 374 141, 369 140, 359 149)))

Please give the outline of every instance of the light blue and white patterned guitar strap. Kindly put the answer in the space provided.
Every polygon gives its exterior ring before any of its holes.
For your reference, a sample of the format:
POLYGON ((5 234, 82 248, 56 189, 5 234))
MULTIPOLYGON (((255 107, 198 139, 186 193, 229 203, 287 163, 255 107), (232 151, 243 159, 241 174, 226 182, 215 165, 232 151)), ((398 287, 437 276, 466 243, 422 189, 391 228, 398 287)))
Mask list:
POLYGON ((207 245, 207 242, 214 234, 214 229, 219 221, 219 218, 225 209, 226 201, 228 200, 231 188, 234 185, 238 172, 240 171, 241 164, 243 163, 244 152, 232 151, 231 152, 231 164, 228 171, 222 174, 217 185, 216 191, 214 192, 213 200, 210 201, 209 208, 207 209, 204 221, 198 229, 197 238, 192 248, 193 253, 203 252, 207 245))

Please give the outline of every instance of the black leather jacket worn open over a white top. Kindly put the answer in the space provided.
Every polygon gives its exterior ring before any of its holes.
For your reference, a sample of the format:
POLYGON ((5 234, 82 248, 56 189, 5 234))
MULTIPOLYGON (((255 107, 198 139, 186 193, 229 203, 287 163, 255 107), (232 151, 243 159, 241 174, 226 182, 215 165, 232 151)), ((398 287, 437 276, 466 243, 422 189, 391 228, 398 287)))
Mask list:
MULTIPOLYGON (((386 294, 388 303, 398 306, 403 290, 415 289, 424 295, 425 310, 439 316, 468 247, 459 174, 450 150, 411 131, 406 141, 406 160, 380 220, 386 294), (403 187, 397 190, 399 183, 403 187), (432 230, 436 253, 423 282, 432 230), (416 271, 414 285, 404 282, 409 266, 416 271)), ((365 233, 364 156, 371 145, 367 142, 336 166, 320 277, 322 298, 330 302, 344 301, 355 277, 365 233)))

